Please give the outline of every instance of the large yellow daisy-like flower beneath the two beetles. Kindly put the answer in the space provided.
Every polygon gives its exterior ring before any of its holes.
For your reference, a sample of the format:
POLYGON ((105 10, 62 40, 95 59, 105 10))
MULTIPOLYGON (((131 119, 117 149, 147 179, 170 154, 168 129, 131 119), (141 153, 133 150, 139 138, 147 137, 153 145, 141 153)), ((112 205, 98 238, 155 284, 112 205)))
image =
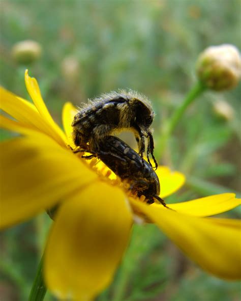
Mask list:
MULTIPOLYGON (((1 147, 1 228, 60 204, 44 258, 46 285, 57 297, 91 300, 111 282, 136 216, 155 223, 206 271, 240 278, 239 221, 206 218, 239 205, 234 194, 168 205, 175 211, 130 197, 113 175, 104 176, 107 169, 71 151, 72 104, 64 106, 64 133, 27 72, 25 83, 34 104, 1 88, 1 108, 11 116, 0 117, 1 127, 23 134, 1 147)), ((165 167, 157 173, 162 198, 185 180, 165 167)))

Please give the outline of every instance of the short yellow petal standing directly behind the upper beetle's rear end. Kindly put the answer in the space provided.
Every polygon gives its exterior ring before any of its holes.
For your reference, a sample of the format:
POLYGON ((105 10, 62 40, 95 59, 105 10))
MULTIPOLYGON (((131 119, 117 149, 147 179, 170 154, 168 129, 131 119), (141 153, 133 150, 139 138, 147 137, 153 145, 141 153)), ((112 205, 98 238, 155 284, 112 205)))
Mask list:
POLYGON ((62 113, 62 122, 64 126, 64 130, 67 136, 67 139, 69 140, 69 145, 72 148, 75 148, 75 144, 72 139, 72 132, 73 128, 71 126, 74 116, 78 112, 77 108, 73 106, 71 102, 66 102, 64 107, 63 107, 63 113, 62 113))

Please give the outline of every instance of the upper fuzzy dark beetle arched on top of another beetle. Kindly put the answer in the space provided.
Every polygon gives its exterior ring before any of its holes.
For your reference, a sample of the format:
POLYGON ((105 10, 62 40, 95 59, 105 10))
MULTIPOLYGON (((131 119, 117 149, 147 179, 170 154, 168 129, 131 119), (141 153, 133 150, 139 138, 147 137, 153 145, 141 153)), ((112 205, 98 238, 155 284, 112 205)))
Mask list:
POLYGON ((94 100, 89 100, 74 116, 73 141, 76 147, 93 154, 99 153, 100 145, 103 145, 106 136, 114 131, 129 129, 134 132, 141 157, 145 152, 145 138, 147 139, 147 160, 151 165, 150 153, 157 169, 154 140, 150 129, 154 115, 148 99, 137 92, 119 90, 103 94, 94 100))

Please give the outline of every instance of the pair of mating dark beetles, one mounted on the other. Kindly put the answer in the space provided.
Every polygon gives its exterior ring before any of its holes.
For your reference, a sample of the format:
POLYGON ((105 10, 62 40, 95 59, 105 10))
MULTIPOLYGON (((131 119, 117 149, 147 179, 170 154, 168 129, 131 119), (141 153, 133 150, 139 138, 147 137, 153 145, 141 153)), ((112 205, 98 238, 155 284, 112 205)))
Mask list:
POLYGON ((77 147, 92 154, 86 158, 100 158, 120 179, 130 184, 131 191, 137 196, 144 195, 149 204, 157 199, 166 206, 158 196, 159 179, 148 157, 150 153, 157 168, 152 131, 149 129, 153 118, 152 107, 143 96, 135 92, 112 92, 90 101, 75 115, 73 138, 77 147), (124 141, 110 135, 121 129, 134 131, 140 155, 124 141), (142 158, 144 138, 148 140, 148 162, 142 158))

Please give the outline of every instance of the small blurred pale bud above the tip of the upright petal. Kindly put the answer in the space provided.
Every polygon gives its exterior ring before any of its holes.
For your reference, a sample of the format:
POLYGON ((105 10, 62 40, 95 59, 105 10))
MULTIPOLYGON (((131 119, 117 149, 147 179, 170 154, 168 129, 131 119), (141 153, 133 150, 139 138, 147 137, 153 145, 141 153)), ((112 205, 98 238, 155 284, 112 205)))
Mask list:
POLYGON ((41 53, 41 45, 31 40, 18 42, 12 48, 12 57, 19 64, 33 63, 40 58, 41 53))

